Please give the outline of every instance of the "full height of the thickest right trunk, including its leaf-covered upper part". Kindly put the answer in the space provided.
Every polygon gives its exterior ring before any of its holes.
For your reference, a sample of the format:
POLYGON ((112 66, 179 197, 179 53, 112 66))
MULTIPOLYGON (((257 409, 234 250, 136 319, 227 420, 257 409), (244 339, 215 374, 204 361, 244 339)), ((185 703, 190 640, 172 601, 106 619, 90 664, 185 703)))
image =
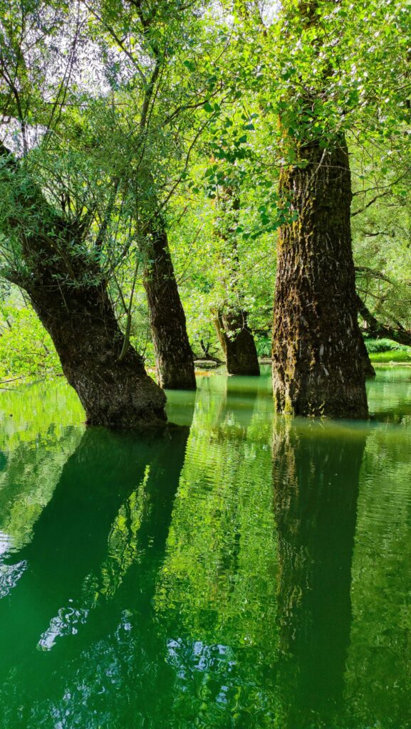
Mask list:
MULTIPOLYGON (((286 3, 284 43, 302 45, 280 107, 280 227, 274 297, 273 388, 277 410, 299 415, 365 417, 364 344, 357 321, 350 233, 352 198, 345 133, 331 117, 331 4, 286 3), (312 66, 315 64, 315 77, 312 66), (325 108, 328 112, 325 112, 325 108)), ((332 107, 331 107, 332 108, 332 107)), ((337 112, 334 112, 337 113, 337 112)))

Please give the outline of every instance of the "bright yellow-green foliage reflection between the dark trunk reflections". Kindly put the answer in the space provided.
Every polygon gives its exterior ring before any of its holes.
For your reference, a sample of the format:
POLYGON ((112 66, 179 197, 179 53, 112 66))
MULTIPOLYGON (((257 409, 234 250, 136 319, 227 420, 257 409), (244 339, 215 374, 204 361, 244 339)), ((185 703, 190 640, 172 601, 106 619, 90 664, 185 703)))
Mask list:
POLYGON ((172 700, 158 701, 175 728, 268 728, 276 649, 272 424, 258 420, 255 380, 216 376, 198 395, 155 595, 173 669, 172 700))

